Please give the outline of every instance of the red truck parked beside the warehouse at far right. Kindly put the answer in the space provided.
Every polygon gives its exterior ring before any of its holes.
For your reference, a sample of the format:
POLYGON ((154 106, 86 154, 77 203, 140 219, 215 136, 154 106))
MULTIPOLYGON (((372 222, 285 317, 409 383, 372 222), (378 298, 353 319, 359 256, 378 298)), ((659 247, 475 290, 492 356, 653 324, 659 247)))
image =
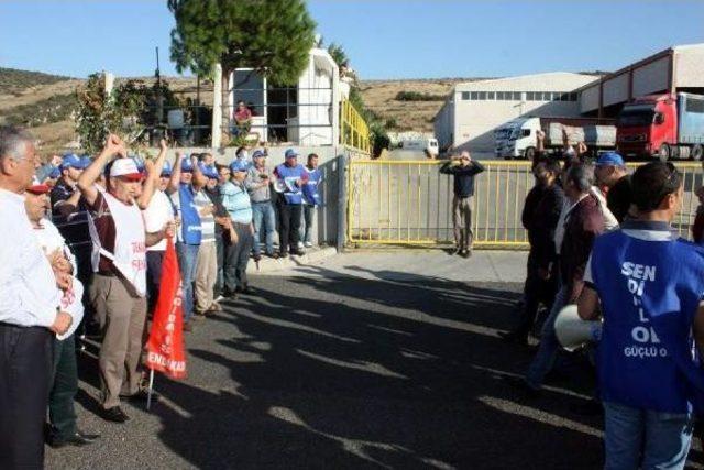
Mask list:
POLYGON ((618 151, 625 157, 702 160, 704 96, 649 95, 627 103, 617 121, 618 151))

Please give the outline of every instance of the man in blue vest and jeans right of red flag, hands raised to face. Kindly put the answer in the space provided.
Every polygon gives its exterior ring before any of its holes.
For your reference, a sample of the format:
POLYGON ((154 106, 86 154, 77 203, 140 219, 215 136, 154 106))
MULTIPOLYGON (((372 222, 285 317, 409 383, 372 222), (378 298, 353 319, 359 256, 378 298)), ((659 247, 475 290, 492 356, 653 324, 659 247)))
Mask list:
POLYGON ((200 214, 195 198, 206 185, 207 178, 198 167, 196 157, 184 157, 180 164, 175 165, 178 171, 174 177, 179 177, 178 192, 172 194, 172 203, 180 218, 180 230, 176 237, 176 253, 178 254, 178 267, 180 269, 182 285, 184 289, 184 330, 190 331, 194 313, 194 282, 196 281, 196 266, 198 265, 198 250, 202 237, 200 214))

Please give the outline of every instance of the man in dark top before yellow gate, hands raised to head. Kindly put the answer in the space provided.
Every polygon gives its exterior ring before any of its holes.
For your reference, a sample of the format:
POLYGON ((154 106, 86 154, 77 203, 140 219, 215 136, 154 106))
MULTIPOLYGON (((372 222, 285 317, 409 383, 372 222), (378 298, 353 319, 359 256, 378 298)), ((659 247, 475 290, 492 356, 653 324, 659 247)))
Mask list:
POLYGON ((462 151, 440 167, 443 175, 453 175, 452 226, 454 228, 454 251, 463 258, 472 255, 472 199, 474 196, 474 176, 484 171, 484 166, 462 151))

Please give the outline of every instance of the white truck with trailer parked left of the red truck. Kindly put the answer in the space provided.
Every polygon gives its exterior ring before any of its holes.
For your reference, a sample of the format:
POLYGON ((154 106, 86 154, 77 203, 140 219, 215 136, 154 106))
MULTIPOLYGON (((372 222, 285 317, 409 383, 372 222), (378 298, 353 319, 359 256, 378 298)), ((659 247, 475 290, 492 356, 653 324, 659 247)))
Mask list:
POLYGON ((531 160, 538 145, 537 131, 546 133, 544 147, 554 152, 568 143, 584 142, 593 155, 616 147, 616 125, 612 120, 595 118, 526 117, 509 121, 494 131, 497 159, 531 160))

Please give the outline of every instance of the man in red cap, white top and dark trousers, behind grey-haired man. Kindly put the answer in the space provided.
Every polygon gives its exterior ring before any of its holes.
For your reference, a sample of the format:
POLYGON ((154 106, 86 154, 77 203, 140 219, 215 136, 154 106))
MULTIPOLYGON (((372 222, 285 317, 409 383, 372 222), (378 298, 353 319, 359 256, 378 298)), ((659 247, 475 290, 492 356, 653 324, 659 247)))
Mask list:
POLYGON ((66 239, 56 226, 46 219, 50 205, 50 187, 34 181, 24 193, 24 207, 34 229, 34 234, 44 253, 54 260, 59 272, 73 277, 72 287, 58 289, 62 308, 73 317, 72 327, 65 335, 54 340, 54 369, 51 393, 48 396, 47 444, 53 448, 64 446, 86 446, 94 442, 99 435, 87 434, 76 426, 74 401, 78 392, 78 368, 76 364, 75 331, 84 316, 84 286, 78 281, 76 256, 66 244, 66 239))

